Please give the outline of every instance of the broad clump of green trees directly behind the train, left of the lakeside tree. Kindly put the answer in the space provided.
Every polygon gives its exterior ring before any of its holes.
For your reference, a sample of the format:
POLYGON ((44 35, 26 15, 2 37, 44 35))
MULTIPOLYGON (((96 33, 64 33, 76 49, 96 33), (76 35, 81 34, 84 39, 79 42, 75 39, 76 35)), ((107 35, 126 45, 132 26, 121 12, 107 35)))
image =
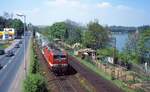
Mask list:
POLYGON ((75 22, 67 20, 64 22, 56 22, 49 27, 42 29, 42 34, 50 40, 58 38, 68 44, 80 43, 82 41, 82 29, 75 22))

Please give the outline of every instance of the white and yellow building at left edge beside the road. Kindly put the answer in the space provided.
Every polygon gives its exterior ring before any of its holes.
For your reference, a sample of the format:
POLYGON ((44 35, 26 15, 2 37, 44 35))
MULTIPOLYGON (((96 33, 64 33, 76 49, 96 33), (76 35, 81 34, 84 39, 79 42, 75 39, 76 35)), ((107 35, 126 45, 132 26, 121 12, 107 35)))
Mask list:
POLYGON ((15 38, 14 28, 4 28, 0 30, 0 40, 12 40, 15 38))

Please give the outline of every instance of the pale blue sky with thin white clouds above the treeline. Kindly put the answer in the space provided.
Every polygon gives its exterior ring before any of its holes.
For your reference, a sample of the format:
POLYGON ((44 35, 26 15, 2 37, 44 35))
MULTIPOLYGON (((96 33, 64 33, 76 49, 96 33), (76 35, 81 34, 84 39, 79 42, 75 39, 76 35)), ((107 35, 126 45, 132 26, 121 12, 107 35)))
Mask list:
POLYGON ((27 22, 50 25, 71 19, 86 24, 98 19, 102 25, 150 25, 150 0, 1 0, 3 12, 23 13, 27 22))

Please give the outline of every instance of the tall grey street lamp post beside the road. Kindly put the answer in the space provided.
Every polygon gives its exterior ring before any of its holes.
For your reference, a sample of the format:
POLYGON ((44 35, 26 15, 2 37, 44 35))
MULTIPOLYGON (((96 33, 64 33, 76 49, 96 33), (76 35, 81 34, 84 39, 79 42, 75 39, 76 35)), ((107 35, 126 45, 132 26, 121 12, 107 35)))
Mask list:
POLYGON ((25 30, 26 30, 26 15, 23 14, 16 14, 19 17, 23 17, 24 19, 24 30, 23 30, 23 35, 24 35, 24 72, 25 72, 25 77, 27 76, 27 68, 26 68, 26 53, 25 53, 25 30))

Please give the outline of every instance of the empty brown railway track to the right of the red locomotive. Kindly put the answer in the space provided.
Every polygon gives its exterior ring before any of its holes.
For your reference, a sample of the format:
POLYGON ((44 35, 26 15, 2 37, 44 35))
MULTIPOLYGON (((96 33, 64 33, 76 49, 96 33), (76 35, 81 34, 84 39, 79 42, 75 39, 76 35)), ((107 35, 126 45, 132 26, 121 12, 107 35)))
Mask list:
POLYGON ((118 88, 108 80, 105 80, 86 66, 79 63, 75 57, 69 56, 69 61, 69 64, 75 68, 81 76, 89 81, 93 87, 95 87, 96 92, 123 92, 122 89, 118 88))

